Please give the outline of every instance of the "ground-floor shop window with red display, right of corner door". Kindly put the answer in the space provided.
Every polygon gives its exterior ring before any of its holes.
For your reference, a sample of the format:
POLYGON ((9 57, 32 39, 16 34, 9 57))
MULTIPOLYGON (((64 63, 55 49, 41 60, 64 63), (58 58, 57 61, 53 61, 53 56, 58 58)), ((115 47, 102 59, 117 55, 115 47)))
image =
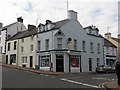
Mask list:
POLYGON ((70 56, 70 67, 79 67, 79 56, 71 55, 70 56))

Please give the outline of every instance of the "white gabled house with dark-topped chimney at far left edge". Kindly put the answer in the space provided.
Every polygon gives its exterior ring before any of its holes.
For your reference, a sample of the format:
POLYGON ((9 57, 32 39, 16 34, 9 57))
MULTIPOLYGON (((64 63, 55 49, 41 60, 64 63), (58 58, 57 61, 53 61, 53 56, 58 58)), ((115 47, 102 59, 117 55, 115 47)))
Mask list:
MULTIPOLYGON (((2 25, 0 25, 2 26, 2 25)), ((17 18, 17 22, 0 28, 0 52, 5 53, 6 40, 20 31, 26 30, 22 17, 17 18)))

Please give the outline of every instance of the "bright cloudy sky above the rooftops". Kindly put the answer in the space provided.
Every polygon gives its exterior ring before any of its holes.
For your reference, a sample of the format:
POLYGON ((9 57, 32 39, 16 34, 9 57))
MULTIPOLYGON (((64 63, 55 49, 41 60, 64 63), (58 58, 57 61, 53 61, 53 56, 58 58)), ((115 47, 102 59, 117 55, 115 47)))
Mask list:
MULTIPOLYGON (((94 25, 99 33, 118 35, 119 0, 68 0, 68 10, 77 12, 78 21, 83 27, 94 25)), ((17 21, 22 16, 24 24, 45 24, 67 19, 67 0, 1 0, 0 22, 3 26, 17 21)))

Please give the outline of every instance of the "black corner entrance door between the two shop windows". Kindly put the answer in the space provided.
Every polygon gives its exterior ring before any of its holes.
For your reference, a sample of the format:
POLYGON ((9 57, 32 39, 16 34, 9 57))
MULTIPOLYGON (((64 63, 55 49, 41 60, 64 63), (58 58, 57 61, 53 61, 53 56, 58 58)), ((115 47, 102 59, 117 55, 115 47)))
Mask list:
POLYGON ((56 72, 64 72, 64 57, 56 55, 56 72))

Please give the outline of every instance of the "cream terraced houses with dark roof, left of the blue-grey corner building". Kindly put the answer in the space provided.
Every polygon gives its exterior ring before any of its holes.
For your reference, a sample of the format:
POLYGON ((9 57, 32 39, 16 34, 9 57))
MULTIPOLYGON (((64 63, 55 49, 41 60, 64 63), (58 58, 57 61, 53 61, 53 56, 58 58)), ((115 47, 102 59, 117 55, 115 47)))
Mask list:
POLYGON ((6 63, 35 68, 37 29, 28 25, 28 30, 18 32, 7 41, 6 63))

